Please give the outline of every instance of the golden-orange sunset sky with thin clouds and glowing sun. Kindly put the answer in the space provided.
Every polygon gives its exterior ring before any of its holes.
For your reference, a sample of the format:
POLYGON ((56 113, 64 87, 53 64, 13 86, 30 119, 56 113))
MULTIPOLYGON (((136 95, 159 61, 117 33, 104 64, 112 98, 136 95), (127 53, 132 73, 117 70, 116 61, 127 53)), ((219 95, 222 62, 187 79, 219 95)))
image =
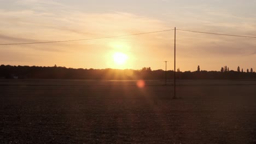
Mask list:
MULTIPOLYGON (((254 0, 0 0, 0 44, 110 37, 165 29, 256 37, 254 0)), ((173 70, 174 32, 65 43, 0 45, 0 64, 173 70), (121 53, 117 56, 117 53, 121 53), (120 59, 119 59, 120 57, 120 59), (125 59, 122 57, 125 57, 125 59), (118 62, 119 59, 120 61, 118 62)), ((176 32, 176 68, 256 69, 256 39, 176 32)), ((255 70, 254 70, 255 71, 255 70)))

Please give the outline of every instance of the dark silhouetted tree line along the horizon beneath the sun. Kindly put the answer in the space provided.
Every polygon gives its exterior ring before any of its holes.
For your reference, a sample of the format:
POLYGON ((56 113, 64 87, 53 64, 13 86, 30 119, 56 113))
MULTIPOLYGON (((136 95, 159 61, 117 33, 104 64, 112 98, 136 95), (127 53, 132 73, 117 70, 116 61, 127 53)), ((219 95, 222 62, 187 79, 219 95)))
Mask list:
MULTIPOLYGON (((240 68, 239 68, 240 69, 240 68)), ((0 66, 1 79, 96 79, 96 80, 158 80, 173 79, 173 70, 152 70, 150 67, 144 67, 140 70, 132 69, 73 69, 66 67, 36 67, 36 66, 0 66)), ((176 72, 177 79, 256 79, 256 73, 253 69, 247 70, 247 73, 229 70, 222 67, 220 71, 200 70, 200 66, 196 71, 180 71, 176 72)))

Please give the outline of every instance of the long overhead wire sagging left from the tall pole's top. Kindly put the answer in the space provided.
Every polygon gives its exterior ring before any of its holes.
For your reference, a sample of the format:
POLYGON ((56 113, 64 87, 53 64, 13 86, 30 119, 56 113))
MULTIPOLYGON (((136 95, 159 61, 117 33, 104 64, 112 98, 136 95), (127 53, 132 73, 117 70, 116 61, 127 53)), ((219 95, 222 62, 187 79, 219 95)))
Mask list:
POLYGON ((96 40, 96 39, 108 39, 108 38, 119 38, 119 37, 128 37, 132 35, 142 35, 142 34, 150 34, 150 33, 160 33, 166 31, 173 31, 174 29, 165 29, 162 31, 153 31, 153 32, 145 32, 145 33, 135 33, 135 34, 126 34, 126 35, 117 35, 110 37, 101 37, 101 38, 89 38, 89 39, 74 39, 74 40, 58 40, 58 41, 42 41, 42 42, 32 42, 32 43, 10 43, 10 44, 0 44, 0 45, 26 45, 26 44, 46 44, 46 43, 62 43, 68 41, 83 41, 83 40, 96 40))

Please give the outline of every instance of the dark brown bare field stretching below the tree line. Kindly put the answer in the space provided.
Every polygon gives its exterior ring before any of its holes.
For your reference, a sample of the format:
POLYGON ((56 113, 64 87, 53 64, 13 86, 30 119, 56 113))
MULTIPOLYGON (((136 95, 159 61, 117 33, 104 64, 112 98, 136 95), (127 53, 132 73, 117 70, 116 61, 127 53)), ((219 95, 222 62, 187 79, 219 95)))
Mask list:
POLYGON ((0 80, 0 143, 256 143, 256 81, 0 80))

